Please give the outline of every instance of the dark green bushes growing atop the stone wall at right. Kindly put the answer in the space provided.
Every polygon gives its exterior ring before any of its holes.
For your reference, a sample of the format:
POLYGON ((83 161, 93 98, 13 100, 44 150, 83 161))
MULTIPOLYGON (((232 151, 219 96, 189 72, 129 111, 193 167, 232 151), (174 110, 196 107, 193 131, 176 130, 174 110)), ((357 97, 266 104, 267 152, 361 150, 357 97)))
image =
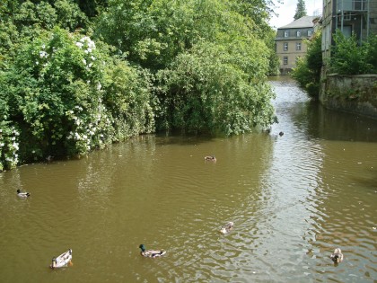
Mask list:
POLYGON ((362 46, 359 46, 355 34, 346 38, 341 31, 337 31, 335 46, 331 50, 330 71, 339 75, 373 74, 376 70, 377 42, 376 36, 362 46))

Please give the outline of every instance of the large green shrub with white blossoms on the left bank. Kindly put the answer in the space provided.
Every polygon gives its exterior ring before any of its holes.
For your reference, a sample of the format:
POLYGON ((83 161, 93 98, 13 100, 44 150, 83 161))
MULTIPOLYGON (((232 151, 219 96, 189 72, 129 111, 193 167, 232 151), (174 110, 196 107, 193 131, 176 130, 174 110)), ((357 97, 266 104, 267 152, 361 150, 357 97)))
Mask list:
POLYGON ((0 88, 1 170, 153 130, 145 76, 82 34, 56 28, 24 45, 0 88))

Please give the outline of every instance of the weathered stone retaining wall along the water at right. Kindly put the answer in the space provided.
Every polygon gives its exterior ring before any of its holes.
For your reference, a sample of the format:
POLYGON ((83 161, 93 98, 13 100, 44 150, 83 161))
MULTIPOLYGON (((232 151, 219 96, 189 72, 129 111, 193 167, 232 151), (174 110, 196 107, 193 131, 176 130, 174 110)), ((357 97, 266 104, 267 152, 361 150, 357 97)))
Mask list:
POLYGON ((320 102, 328 109, 377 119, 377 75, 327 75, 320 102))

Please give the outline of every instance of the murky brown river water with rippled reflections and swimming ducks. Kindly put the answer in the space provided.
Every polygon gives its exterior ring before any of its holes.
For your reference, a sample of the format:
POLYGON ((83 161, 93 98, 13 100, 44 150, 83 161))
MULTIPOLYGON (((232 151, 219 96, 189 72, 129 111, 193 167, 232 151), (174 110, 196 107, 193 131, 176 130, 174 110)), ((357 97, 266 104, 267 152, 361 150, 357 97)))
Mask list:
POLYGON ((0 173, 0 282, 377 282, 377 121, 270 82, 269 134, 146 135, 0 173))

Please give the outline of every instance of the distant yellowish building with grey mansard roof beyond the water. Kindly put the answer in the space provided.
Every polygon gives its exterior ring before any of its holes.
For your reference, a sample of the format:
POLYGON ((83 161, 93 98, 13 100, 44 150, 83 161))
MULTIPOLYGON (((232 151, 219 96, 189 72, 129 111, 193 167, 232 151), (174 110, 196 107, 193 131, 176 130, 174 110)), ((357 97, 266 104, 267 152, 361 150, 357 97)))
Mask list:
POLYGON ((304 40, 311 38, 314 24, 318 20, 318 16, 303 16, 277 29, 275 43, 281 75, 288 74, 296 66, 297 59, 306 54, 307 46, 304 40))

